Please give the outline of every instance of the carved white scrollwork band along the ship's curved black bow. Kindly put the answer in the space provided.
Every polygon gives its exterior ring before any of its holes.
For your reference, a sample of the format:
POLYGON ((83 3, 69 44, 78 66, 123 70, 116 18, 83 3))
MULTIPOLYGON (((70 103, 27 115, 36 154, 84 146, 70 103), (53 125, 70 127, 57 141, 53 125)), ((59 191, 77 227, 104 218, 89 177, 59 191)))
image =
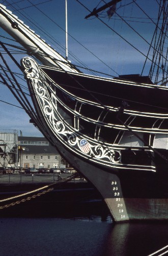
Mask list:
MULTIPOLYGON (((21 65, 24 68, 24 74, 29 79, 31 90, 33 91, 34 100, 37 108, 43 113, 43 118, 52 133, 58 139, 64 141, 71 150, 75 151, 81 156, 84 154, 88 159, 95 159, 96 162, 103 160, 105 163, 119 163, 121 160, 120 151, 108 148, 105 145, 100 145, 98 141, 90 142, 90 138, 86 138, 87 150, 83 150, 80 142, 83 137, 76 133, 74 127, 71 130, 61 120, 60 113, 57 110, 57 105, 52 102, 52 98, 57 99, 57 95, 53 95, 50 90, 50 84, 47 82, 45 76, 40 71, 39 66, 30 57, 24 57, 21 60, 21 65), (48 91, 50 93, 48 93, 48 91)), ((83 139, 84 140, 84 139, 83 139)))

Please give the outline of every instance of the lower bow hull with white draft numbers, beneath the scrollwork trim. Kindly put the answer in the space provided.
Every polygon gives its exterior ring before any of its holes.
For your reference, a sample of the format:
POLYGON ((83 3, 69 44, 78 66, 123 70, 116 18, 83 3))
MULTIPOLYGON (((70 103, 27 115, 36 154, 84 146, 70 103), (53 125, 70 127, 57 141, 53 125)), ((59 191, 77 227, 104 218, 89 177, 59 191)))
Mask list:
POLYGON ((58 149, 98 189, 114 221, 167 220, 168 186, 163 180, 158 183, 156 174, 111 173, 83 162, 61 145, 58 149))

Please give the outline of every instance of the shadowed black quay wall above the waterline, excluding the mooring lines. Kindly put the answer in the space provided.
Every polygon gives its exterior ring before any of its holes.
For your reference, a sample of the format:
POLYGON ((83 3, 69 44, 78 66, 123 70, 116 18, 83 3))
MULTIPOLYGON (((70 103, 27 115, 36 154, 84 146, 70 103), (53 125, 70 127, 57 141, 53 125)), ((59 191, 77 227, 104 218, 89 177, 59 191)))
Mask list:
MULTIPOLYGON (((1 185, 1 200, 29 193, 46 184, 15 184, 1 185)), ((43 192, 44 190, 41 190, 43 192)), ((36 195, 36 193, 35 193, 36 195)), ((53 190, 41 196, 18 202, 24 197, 11 199, 1 203, 10 207, 4 207, 0 211, 0 217, 16 218, 92 218, 97 216, 101 220, 109 217, 109 210, 97 189, 86 181, 71 181, 55 184, 53 190)))

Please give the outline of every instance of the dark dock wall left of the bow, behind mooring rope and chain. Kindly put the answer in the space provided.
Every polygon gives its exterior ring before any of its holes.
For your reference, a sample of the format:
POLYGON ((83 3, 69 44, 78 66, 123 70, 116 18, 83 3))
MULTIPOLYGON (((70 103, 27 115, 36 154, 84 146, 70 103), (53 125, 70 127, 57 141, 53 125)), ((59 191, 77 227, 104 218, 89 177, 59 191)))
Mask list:
MULTIPOLYGON (((60 176, 65 179, 71 175, 60 176)), ((83 178, 57 182, 57 178, 58 174, 1 175, 0 217, 109 215, 101 195, 90 182, 83 178)))

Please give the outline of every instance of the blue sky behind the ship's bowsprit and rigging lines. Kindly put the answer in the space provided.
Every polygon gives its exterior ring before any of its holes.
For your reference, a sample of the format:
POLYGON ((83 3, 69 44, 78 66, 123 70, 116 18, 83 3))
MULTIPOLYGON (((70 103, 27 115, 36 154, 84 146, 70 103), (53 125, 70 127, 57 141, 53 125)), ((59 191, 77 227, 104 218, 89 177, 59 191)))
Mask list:
MULTIPOLYGON (((24 24, 28 25, 41 36, 51 47, 65 57, 65 1, 64 0, 8 0, 0 3, 7 6, 24 24), (33 22, 33 24, 32 24, 33 22), (42 32, 36 25, 40 26, 42 32)), ((68 3, 68 59, 78 66, 85 63, 90 69, 102 73, 118 76, 119 74, 141 74, 145 56, 154 32, 154 25, 149 18, 132 5, 132 0, 124 0, 117 5, 117 13, 124 17, 127 23, 141 34, 138 34, 126 25, 122 19, 114 15, 108 19, 106 11, 99 15, 99 19, 85 16, 95 7, 104 4, 100 0, 67 0, 68 3), (82 6, 80 3, 84 6, 82 6), (101 2, 101 3, 100 3, 101 2), (88 10, 87 10, 88 9, 88 10), (135 19, 135 17, 137 17, 135 19), (142 17, 144 17, 142 19, 142 17), (105 25, 105 24, 106 25, 105 25), (123 40, 114 30, 121 34, 123 40), (131 47, 129 41, 133 46, 131 47), (143 54, 139 53, 138 49, 143 54), (76 61, 79 59, 80 62, 76 61)), ((157 16, 156 0, 136 0, 136 3, 146 13, 154 18, 157 16)), ((0 35, 11 38, 0 28, 0 35)), ((3 42, 11 44, 9 39, 2 38, 3 42)), ((2 52, 2 49, 0 48, 2 52)), ((16 55, 18 61, 26 53, 16 55)), ((7 58, 9 66, 15 71, 15 65, 7 58)), ((1 61, 1 60, 0 60, 1 61)), ((148 75, 150 64, 143 75, 148 75)), ((82 70, 83 71, 83 70, 82 70)), ((88 71, 84 71, 88 73, 88 71)), ((98 74, 100 75, 100 73, 98 74)), ((104 74, 101 74, 105 76, 104 74)), ((22 77, 23 78, 23 77, 22 77)), ((18 79, 26 86, 26 82, 18 79)), ((28 93, 28 91, 27 91, 28 93)), ((29 97, 29 96, 28 96, 29 97)), ((31 98, 29 97, 30 101, 31 98)), ((23 136, 42 136, 40 131, 29 122, 30 117, 20 108, 20 104, 4 84, 0 83, 0 132, 20 131, 23 136)))

